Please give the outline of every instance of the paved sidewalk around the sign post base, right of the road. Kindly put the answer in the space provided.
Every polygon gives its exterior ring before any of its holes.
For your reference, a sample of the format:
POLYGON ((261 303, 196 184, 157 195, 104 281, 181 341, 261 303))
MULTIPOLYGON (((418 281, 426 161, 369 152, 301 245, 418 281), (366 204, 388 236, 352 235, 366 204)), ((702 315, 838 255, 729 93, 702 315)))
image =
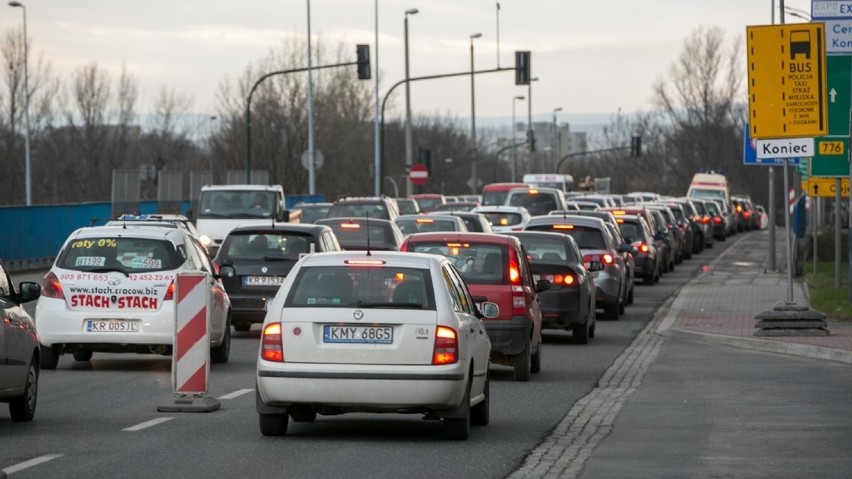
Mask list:
MULTIPOLYGON (((776 234, 776 265, 783 269, 784 229, 776 234)), ((852 364, 852 322, 826 320, 828 336, 755 336, 755 315, 787 300, 786 272, 768 270, 768 231, 728 241, 735 243, 677 294, 658 334, 852 364)), ((793 299, 809 304, 801 278, 793 278, 793 299)))

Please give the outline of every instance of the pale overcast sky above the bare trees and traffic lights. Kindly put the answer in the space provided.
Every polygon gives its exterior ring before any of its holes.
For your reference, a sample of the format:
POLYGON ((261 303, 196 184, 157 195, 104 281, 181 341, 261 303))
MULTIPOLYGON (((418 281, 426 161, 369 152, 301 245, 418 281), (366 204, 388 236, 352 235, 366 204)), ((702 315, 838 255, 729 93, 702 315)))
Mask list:
MULTIPOLYGON (((306 0, 21 2, 31 58, 43 55, 63 77, 95 62, 115 78, 126 64, 139 81, 143 110, 168 87, 191 96, 199 113, 214 113, 223 80, 308 30, 306 0)), ((571 114, 648 111, 652 85, 691 32, 718 26, 730 43, 747 25, 771 23, 773 3, 777 9, 778 0, 503 0, 498 15, 493 0, 378 0, 380 94, 404 78, 404 12, 418 8, 409 17, 412 77, 469 70, 474 33, 482 33, 476 68, 495 68, 499 23, 501 67, 513 66, 515 50, 532 52, 534 114, 549 117, 557 107, 571 114)), ((808 0, 785 3, 810 11, 808 0)), ((22 10, 5 7, 0 20, 6 31, 20 26, 22 10)), ((354 45, 370 43, 375 60, 375 1, 312 0, 311 32, 351 44, 353 60, 354 45)), ((513 97, 526 94, 509 72, 478 76, 477 117, 510 116, 513 97)), ((413 84, 411 102, 415 113, 469 117, 470 80, 413 84)), ((521 111, 526 104, 518 102, 521 111)))

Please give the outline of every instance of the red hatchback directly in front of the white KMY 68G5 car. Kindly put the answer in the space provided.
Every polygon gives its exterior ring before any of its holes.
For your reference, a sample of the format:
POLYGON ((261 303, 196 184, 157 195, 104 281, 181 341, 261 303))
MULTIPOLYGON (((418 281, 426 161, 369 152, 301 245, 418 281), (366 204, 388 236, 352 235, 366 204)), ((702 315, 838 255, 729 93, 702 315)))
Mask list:
POLYGON ((516 381, 541 370, 541 300, 550 282, 533 279, 518 238, 494 233, 414 233, 400 251, 446 256, 461 273, 474 301, 497 303, 500 314, 483 319, 491 361, 512 366, 516 381))

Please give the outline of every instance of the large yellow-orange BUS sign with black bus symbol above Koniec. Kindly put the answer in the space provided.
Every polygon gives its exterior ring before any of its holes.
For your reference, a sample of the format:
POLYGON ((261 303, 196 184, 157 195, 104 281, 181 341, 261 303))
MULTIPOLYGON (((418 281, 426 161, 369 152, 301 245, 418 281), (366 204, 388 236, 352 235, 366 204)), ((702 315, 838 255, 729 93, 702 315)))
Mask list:
POLYGON ((746 27, 746 46, 752 138, 826 135, 825 25, 746 27))

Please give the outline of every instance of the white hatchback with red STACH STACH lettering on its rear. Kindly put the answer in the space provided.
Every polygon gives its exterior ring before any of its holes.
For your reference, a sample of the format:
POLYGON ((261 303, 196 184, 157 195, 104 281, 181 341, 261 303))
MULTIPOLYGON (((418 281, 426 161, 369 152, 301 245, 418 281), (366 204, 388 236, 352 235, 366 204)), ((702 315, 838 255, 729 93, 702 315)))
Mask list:
POLYGON ((41 367, 55 369, 63 353, 171 354, 182 272, 207 274, 211 360, 227 362, 231 302, 204 247, 178 228, 96 226, 71 233, 42 282, 41 367))

